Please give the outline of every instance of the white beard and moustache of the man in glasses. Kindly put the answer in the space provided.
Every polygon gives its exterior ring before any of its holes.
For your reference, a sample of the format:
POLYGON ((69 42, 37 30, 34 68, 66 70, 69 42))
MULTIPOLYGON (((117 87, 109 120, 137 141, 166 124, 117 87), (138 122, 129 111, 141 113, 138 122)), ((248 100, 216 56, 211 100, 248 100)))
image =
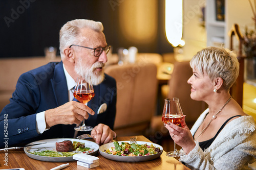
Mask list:
POLYGON ((98 74, 96 74, 96 72, 94 72, 95 68, 98 68, 98 67, 104 67, 104 64, 101 62, 96 62, 90 68, 84 67, 84 65, 82 63, 82 59, 79 58, 78 62, 75 65, 75 71, 76 71, 76 74, 79 76, 91 76, 92 84, 98 85, 105 78, 103 70, 100 71, 98 74))

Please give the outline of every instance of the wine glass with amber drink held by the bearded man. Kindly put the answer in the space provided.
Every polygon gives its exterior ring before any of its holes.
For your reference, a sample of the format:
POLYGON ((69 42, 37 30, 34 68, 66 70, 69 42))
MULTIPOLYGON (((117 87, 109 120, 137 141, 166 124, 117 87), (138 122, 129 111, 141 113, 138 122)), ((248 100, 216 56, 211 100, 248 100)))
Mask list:
MULTIPOLYGON (((94 97, 93 85, 90 76, 79 76, 76 81, 74 90, 74 97, 80 102, 86 105, 94 97)), ((93 127, 86 126, 84 118, 82 120, 82 126, 74 128, 76 131, 91 131, 93 127)))

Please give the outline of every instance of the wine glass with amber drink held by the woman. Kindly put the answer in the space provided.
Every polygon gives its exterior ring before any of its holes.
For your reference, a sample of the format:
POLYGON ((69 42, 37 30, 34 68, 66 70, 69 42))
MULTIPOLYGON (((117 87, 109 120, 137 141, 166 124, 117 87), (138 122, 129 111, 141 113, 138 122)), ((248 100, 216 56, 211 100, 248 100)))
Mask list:
MULTIPOLYGON (((167 124, 169 122, 179 126, 182 119, 183 119, 183 113, 180 107, 179 99, 178 98, 165 99, 163 115, 162 115, 163 123, 167 124)), ((176 150, 175 142, 174 142, 174 151, 166 153, 166 156, 170 156, 170 157, 180 157, 182 155, 185 155, 185 153, 182 151, 176 150)))

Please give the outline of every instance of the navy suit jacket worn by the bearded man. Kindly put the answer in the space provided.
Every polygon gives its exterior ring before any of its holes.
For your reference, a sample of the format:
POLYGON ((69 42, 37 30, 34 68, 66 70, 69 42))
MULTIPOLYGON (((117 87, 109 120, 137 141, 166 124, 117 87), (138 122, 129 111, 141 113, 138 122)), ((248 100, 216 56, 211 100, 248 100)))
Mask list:
MULTIPOLYGON (((104 81, 94 86, 95 96, 88 103, 95 114, 89 115, 86 125, 92 127, 99 123, 113 129, 116 115, 116 81, 105 74, 104 81), (106 103, 107 109, 97 114, 99 106, 106 103)), ((2 129, 0 147, 7 144, 49 138, 73 138, 74 125, 55 125, 42 134, 36 131, 36 113, 56 108, 69 101, 67 81, 62 62, 51 62, 44 66, 22 74, 16 84, 16 89, 0 114, 2 129)), ((84 133, 84 132, 83 132, 84 133)), ((80 135, 81 132, 78 133, 80 135)))

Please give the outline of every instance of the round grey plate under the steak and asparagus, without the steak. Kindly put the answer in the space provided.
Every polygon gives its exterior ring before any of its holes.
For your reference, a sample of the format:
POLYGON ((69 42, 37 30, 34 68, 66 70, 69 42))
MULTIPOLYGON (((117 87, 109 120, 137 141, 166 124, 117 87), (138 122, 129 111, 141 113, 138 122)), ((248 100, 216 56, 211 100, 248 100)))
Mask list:
MULTIPOLYGON (((72 138, 56 138, 56 139, 38 140, 35 142, 31 142, 29 144, 36 144, 36 143, 43 143, 43 142, 47 142, 47 143, 38 144, 38 145, 30 146, 30 147, 25 147, 24 151, 28 157, 37 159, 37 160, 41 160, 41 161, 49 161, 49 162, 75 161, 75 159, 73 159, 72 156, 70 156, 70 157, 51 157, 51 156, 34 155, 34 154, 29 153, 29 152, 33 152, 33 151, 45 151, 45 150, 56 151, 55 143, 61 142, 64 140, 71 140, 72 143, 74 141, 83 142, 86 147, 94 149, 94 152, 92 152, 88 155, 96 155, 97 152, 99 151, 99 145, 93 141, 83 140, 83 139, 72 139, 72 138)), ((73 152, 75 152, 75 151, 73 151, 73 152)))

